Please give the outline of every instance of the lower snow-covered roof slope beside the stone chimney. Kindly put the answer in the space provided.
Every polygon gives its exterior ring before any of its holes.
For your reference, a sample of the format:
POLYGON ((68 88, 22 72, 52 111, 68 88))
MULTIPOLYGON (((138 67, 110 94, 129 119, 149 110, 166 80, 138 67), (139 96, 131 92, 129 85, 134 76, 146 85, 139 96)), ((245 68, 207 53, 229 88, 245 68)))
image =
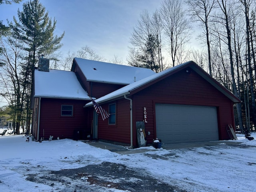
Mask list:
POLYGON ((82 88, 76 74, 70 71, 52 70, 44 72, 35 70, 34 97, 69 98, 90 100, 82 88))

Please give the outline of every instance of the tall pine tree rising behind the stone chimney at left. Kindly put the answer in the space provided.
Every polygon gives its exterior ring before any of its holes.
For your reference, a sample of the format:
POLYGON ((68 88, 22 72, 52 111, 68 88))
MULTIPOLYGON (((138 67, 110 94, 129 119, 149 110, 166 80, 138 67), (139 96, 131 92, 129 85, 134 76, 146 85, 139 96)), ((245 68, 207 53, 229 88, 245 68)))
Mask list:
MULTIPOLYGON (((52 21, 45 12, 45 7, 39 0, 30 0, 23 4, 23 10, 18 10, 18 20, 14 17, 14 23, 10 23, 10 28, 14 32, 14 37, 23 42, 22 49, 27 53, 24 62, 22 63, 22 83, 24 89, 24 96, 26 97, 26 127, 30 127, 31 111, 30 100, 32 98, 32 87, 34 82, 34 67, 38 61, 39 56, 44 55, 48 58, 58 50, 62 44, 60 41, 64 37, 54 36, 56 28, 56 20, 52 21)), ((50 58, 57 60, 57 58, 50 58)), ((21 116, 18 118, 18 123, 21 116)), ((18 124, 18 128, 19 128, 18 124)), ((16 130, 18 133, 19 130, 16 130)))

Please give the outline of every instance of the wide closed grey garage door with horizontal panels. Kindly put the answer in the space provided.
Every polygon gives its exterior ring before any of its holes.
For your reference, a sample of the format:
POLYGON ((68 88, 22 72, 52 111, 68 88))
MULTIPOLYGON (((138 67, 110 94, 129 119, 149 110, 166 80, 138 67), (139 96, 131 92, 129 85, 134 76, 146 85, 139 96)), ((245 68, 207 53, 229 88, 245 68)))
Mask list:
POLYGON ((166 144, 219 140, 216 107, 156 104, 156 136, 166 144))

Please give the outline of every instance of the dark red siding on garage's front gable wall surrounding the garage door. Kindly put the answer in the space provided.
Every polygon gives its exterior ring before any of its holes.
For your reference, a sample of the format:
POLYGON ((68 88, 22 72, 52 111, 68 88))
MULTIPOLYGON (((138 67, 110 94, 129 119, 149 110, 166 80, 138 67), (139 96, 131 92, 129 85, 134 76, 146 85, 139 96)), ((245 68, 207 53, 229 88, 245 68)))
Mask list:
MULTIPOLYGON (((146 132, 156 131, 154 114, 156 103, 216 106, 220 140, 230 139, 226 126, 228 124, 234 126, 233 102, 195 72, 188 74, 180 71, 173 74, 134 94, 133 103, 134 122, 143 119, 143 107, 147 107, 146 132)), ((150 134, 148 142, 152 142, 153 137, 155 134, 150 134)))

